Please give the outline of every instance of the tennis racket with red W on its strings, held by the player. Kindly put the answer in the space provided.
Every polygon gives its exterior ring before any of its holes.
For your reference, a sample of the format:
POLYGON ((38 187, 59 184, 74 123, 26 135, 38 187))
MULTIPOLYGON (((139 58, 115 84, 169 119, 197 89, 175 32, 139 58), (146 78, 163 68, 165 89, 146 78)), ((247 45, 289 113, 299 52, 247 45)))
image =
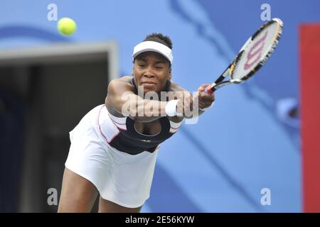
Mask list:
POLYGON ((273 18, 262 25, 245 42, 223 74, 213 84, 206 87, 205 92, 212 94, 225 85, 240 84, 252 77, 262 65, 265 65, 274 49, 277 48, 282 29, 283 23, 279 18, 273 18), (230 80, 223 81, 228 75, 230 75, 230 80))

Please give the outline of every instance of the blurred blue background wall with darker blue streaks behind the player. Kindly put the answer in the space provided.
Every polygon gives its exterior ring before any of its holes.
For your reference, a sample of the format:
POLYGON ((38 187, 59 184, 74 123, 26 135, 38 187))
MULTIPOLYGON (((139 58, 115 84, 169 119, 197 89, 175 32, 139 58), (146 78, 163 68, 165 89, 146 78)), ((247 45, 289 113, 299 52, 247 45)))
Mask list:
POLYGON ((261 21, 260 6, 282 18, 284 35, 270 62, 247 84, 216 92, 213 109, 161 145, 151 198, 143 211, 302 211, 298 26, 320 21, 320 1, 17 1, 0 4, 0 48, 117 40, 119 72, 132 70, 132 49, 152 32, 174 43, 173 80, 191 91, 212 82, 261 21), (78 23, 70 38, 48 21, 78 23), (287 105, 287 106, 286 106, 287 105), (272 204, 262 206, 261 189, 272 204))

